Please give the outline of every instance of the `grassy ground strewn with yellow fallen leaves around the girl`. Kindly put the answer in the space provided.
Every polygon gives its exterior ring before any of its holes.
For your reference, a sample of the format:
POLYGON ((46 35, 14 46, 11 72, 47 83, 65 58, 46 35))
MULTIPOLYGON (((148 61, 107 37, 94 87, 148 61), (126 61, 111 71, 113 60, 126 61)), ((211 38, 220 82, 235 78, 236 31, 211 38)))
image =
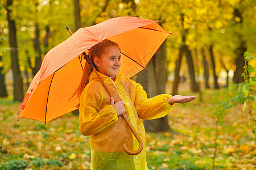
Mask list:
MULTIPOLYGON (((217 94, 205 90, 203 101, 176 104, 168 115, 175 133, 147 133, 149 169, 212 169, 217 94)), ((2 169, 90 169, 89 138, 81 135, 78 116, 68 113, 44 126, 26 118, 16 121, 19 107, 0 99, 2 169)), ((255 142, 242 105, 225 115, 217 143, 216 169, 255 169, 255 142)))

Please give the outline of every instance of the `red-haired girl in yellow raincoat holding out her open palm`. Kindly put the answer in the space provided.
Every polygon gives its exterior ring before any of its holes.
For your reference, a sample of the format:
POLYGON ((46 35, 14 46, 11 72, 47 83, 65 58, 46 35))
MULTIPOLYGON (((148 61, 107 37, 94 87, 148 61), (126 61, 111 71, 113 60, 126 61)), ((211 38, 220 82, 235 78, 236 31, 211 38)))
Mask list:
POLYGON ((123 151, 126 143, 131 151, 138 149, 138 141, 131 133, 124 118, 130 122, 145 145, 142 120, 166 116, 175 103, 186 103, 195 96, 158 95, 150 99, 141 84, 123 78, 119 73, 121 54, 118 44, 104 40, 89 50, 89 57, 106 86, 112 91, 109 97, 96 73, 86 63, 77 94, 80 98, 79 129, 89 136, 93 169, 147 169, 146 150, 138 155, 123 151), (117 102, 114 102, 114 99, 117 102))

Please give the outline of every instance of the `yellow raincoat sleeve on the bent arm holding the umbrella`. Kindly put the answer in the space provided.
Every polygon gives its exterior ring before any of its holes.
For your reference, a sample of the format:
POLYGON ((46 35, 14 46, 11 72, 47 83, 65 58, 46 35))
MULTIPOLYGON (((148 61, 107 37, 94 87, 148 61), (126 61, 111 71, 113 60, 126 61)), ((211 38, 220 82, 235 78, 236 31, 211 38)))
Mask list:
POLYGON ((102 99, 86 89, 80 97, 79 129, 83 135, 100 133, 117 123, 118 117, 112 105, 101 109, 102 99))

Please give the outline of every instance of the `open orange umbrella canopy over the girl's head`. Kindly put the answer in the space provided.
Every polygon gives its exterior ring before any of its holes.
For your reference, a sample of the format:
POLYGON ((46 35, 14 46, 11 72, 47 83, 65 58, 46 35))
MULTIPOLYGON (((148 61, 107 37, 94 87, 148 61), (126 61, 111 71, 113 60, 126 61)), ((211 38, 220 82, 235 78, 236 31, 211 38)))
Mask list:
POLYGON ((79 99, 70 99, 82 78, 81 65, 86 62, 85 59, 80 62, 77 56, 98 42, 105 39, 117 42, 122 56, 120 71, 130 78, 146 67, 168 35, 156 21, 132 16, 80 28, 46 54, 23 99, 19 118, 46 123, 77 109, 79 99))

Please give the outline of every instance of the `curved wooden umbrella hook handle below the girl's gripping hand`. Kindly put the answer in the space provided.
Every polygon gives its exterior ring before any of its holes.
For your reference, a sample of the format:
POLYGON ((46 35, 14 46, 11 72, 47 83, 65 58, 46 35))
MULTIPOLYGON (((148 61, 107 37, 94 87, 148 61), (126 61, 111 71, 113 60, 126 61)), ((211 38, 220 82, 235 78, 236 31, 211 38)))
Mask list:
POLYGON ((127 146, 126 146, 126 143, 123 143, 123 150, 129 155, 137 155, 137 154, 141 153, 141 151, 143 149, 142 139, 141 139, 141 137, 139 137, 139 135, 138 135, 137 131, 134 129, 133 125, 131 125, 131 122, 129 121, 130 118, 127 117, 125 114, 123 114, 123 118, 125 118, 125 121, 127 122, 127 125, 129 126, 129 128, 131 129, 134 136, 136 137, 136 139, 139 142, 139 148, 138 148, 137 151, 129 151, 127 146))

